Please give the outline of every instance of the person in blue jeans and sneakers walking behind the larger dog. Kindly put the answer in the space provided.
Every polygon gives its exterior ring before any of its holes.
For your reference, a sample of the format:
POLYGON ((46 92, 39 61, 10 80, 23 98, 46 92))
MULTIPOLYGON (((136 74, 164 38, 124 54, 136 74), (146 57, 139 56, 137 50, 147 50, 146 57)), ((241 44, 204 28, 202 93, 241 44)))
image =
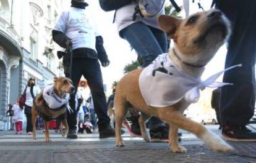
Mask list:
MULTIPOLYGON (((105 11, 116 10, 114 22, 116 22, 119 36, 129 42, 142 59, 142 68, 150 65, 158 55, 166 53, 168 42, 166 34, 160 30, 157 23, 158 15, 164 14, 162 0, 148 1, 147 7, 152 13, 158 13, 154 17, 147 18, 140 15, 137 1, 133 0, 100 0, 101 9, 105 11)), ((140 135, 139 116, 129 111, 126 116, 131 125, 124 122, 130 135, 140 135)), ((168 127, 158 117, 151 117, 148 121, 151 141, 168 140, 168 127)))

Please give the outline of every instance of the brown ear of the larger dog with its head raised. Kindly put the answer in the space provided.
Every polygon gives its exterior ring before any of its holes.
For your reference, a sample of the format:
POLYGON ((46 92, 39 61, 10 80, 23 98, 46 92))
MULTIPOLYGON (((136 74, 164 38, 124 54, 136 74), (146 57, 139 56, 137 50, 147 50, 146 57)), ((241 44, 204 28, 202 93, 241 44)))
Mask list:
POLYGON ((165 33, 168 34, 168 37, 172 39, 175 39, 174 34, 180 24, 181 20, 179 18, 169 15, 160 15, 158 17, 158 25, 165 33))

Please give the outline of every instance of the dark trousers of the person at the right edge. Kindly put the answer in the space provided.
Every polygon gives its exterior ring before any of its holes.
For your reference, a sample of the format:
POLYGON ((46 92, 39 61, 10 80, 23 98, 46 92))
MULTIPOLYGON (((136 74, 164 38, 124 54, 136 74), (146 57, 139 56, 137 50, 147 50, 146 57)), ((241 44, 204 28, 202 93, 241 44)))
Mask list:
POLYGON ((225 68, 242 63, 242 68, 224 73, 223 81, 234 85, 221 89, 220 118, 223 125, 249 122, 255 105, 256 1, 217 0, 216 7, 232 25, 225 68))

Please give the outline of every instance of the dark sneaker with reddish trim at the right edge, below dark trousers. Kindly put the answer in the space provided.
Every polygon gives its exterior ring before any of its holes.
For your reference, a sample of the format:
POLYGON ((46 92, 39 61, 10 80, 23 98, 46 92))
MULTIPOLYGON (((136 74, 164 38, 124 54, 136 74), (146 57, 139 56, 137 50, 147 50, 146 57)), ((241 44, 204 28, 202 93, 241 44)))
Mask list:
POLYGON ((222 129, 222 136, 229 141, 256 141, 256 132, 252 132, 245 126, 225 126, 222 129))

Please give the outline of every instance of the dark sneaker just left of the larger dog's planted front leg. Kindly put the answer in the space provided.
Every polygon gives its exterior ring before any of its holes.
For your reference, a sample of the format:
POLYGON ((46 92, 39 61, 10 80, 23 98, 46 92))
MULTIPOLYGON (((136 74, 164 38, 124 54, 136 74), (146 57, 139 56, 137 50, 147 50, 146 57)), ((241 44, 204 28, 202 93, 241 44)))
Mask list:
POLYGON ((169 129, 168 127, 158 127, 155 130, 150 130, 151 142, 168 142, 169 129))

